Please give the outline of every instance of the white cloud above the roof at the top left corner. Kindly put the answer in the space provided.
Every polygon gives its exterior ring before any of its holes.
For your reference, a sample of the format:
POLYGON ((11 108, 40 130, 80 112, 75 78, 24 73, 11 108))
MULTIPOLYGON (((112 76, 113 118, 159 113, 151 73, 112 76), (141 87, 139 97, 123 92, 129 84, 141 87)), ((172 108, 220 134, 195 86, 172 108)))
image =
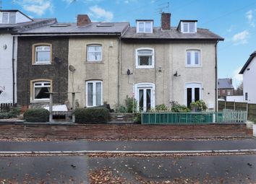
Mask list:
POLYGON ((32 12, 39 16, 42 16, 47 11, 53 12, 54 7, 51 0, 22 0, 17 1, 17 3, 27 12, 32 12))

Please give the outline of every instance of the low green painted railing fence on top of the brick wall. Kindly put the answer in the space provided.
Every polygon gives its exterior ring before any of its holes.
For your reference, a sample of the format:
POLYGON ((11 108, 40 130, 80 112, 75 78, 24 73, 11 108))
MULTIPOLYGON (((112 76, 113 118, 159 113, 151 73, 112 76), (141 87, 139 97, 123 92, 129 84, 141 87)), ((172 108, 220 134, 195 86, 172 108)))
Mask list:
POLYGON ((200 113, 142 113, 142 124, 205 124, 205 123, 244 123, 247 113, 242 110, 200 113))

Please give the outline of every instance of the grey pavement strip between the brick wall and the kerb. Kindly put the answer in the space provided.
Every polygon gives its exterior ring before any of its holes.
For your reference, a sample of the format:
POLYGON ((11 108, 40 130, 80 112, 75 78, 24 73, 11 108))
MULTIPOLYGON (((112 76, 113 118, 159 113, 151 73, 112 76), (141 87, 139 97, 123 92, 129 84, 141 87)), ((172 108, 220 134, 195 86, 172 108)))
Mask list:
POLYGON ((0 141, 0 152, 212 151, 256 149, 256 139, 210 141, 0 141))

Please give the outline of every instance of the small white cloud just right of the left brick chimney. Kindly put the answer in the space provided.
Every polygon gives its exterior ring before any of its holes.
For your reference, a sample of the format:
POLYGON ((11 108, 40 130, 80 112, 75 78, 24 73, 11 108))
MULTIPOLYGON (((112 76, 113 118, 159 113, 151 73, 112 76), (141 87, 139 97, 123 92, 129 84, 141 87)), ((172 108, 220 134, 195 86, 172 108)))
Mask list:
POLYGON ((93 19, 103 19, 105 22, 111 22, 114 17, 113 12, 108 12, 97 5, 90 7, 89 15, 93 19))

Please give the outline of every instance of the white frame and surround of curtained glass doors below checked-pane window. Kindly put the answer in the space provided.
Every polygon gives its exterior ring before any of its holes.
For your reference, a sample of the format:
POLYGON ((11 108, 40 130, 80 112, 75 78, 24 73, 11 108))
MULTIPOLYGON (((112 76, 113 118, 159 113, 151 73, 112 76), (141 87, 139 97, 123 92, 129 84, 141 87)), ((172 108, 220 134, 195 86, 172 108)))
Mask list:
POLYGON ((152 89, 150 104, 151 104, 151 109, 155 108, 155 84, 154 83, 148 83, 148 82, 135 84, 133 91, 134 91, 134 94, 135 94, 135 99, 137 100, 137 110, 139 110, 139 108, 140 108, 139 89, 152 89))

